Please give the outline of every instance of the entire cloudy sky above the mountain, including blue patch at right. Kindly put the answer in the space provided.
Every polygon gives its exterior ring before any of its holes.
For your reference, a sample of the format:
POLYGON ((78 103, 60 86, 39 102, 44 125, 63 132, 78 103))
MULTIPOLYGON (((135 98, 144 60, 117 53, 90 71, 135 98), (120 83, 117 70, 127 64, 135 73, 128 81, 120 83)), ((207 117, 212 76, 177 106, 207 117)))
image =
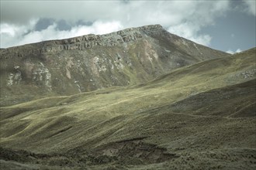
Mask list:
POLYGON ((255 47, 255 0, 0 0, 0 48, 161 24, 228 53, 255 47))

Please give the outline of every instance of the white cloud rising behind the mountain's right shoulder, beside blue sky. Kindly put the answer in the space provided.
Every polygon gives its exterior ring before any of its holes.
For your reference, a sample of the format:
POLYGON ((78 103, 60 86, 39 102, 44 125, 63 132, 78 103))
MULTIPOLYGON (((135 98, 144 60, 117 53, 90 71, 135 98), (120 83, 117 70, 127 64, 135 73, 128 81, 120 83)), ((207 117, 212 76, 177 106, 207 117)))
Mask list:
POLYGON ((181 11, 186 11, 189 15, 182 15, 182 20, 175 26, 169 26, 168 31, 199 44, 209 46, 212 37, 200 33, 200 30, 204 26, 214 25, 216 18, 227 12, 230 4, 228 1, 199 1, 190 3, 193 4, 193 8, 191 6, 188 6, 190 8, 180 8, 181 11))

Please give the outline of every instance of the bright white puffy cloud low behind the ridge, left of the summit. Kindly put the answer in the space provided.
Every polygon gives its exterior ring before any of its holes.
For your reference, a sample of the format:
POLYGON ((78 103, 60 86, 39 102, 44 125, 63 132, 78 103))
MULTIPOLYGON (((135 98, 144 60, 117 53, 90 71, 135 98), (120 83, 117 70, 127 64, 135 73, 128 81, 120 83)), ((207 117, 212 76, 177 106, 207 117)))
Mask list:
MULTIPOLYGON (((35 24, 32 24, 30 26, 31 29, 33 29, 34 25, 35 24)), ((1 29, 1 47, 5 48, 10 45, 19 46, 22 44, 40 42, 49 39, 66 39, 74 36, 83 36, 89 33, 106 34, 123 29, 123 26, 117 21, 96 21, 92 26, 74 26, 71 30, 67 31, 57 30, 57 25, 54 23, 53 25, 48 26, 47 29, 43 29, 40 32, 32 31, 24 35, 24 33, 29 30, 28 27, 22 28, 14 25, 9 26, 8 24, 1 25, 1 28, 3 28, 1 29), (15 29, 15 31, 13 31, 13 29, 15 29)))

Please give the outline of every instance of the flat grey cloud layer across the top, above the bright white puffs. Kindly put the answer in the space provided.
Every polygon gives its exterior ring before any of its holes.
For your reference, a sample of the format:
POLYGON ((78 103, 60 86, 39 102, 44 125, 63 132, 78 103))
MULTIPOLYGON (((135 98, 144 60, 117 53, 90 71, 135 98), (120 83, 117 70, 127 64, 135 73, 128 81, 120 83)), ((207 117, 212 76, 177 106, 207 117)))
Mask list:
MULTIPOLYGON (((118 20, 124 26, 160 23, 178 24, 182 19, 210 22, 227 1, 4 1, 1 22, 23 23, 30 19, 57 19, 67 22, 118 20), (209 10, 210 9, 210 10, 209 10), (211 12, 213 11, 213 12, 211 12), (211 15, 208 15, 208 14, 211 15), (194 19, 195 20, 195 19, 194 19)), ((199 22, 199 23, 200 23, 199 22)))

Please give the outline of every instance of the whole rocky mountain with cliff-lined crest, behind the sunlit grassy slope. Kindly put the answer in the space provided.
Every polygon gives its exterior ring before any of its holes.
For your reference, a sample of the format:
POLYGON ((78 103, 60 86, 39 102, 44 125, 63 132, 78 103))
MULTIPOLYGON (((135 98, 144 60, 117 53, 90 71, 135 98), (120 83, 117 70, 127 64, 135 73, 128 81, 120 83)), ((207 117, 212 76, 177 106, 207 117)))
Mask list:
POLYGON ((160 25, 1 49, 0 104, 144 83, 178 67, 226 55, 172 35, 160 25))

